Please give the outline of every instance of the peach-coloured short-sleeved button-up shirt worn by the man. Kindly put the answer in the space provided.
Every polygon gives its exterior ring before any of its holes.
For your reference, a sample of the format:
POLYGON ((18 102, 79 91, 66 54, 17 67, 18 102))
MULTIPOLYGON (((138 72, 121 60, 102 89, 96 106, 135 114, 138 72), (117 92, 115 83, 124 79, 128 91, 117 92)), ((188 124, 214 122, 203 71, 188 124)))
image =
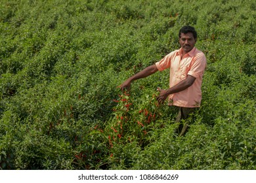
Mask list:
POLYGON ((178 107, 200 107, 202 101, 202 78, 207 65, 205 55, 197 48, 193 48, 183 58, 182 48, 175 50, 156 63, 159 71, 170 69, 169 87, 173 87, 187 75, 196 78, 192 86, 185 90, 169 95, 169 105, 178 107))

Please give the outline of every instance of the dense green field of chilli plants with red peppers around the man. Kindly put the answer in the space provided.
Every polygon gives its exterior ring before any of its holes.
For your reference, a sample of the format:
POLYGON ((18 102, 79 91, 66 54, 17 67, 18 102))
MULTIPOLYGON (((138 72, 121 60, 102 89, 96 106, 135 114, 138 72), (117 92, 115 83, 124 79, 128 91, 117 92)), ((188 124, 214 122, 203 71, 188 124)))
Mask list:
POLYGON ((256 169, 256 3, 1 0, 0 169, 256 169), (184 137, 169 71, 117 86, 198 31, 202 107, 184 137))

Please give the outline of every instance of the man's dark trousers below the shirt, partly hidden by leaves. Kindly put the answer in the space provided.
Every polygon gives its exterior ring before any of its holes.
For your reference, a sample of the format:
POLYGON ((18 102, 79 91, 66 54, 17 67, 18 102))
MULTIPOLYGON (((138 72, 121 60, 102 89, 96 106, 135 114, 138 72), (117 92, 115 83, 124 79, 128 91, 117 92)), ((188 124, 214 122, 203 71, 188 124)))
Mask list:
POLYGON ((183 136, 186 133, 189 124, 192 121, 192 116, 196 112, 196 109, 197 107, 178 107, 179 112, 175 122, 179 123, 179 127, 177 129, 177 133, 179 134, 179 136, 183 136))

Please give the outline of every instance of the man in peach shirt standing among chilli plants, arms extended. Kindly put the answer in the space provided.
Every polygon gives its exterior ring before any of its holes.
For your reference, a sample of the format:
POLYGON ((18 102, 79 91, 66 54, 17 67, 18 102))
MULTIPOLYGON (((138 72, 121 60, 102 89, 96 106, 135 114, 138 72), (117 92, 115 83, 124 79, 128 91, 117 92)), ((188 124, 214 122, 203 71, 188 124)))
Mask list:
POLYGON ((189 125, 188 117, 200 107, 202 99, 201 86, 206 58, 202 51, 194 47, 196 39, 197 33, 194 27, 183 26, 179 31, 179 44, 181 45, 179 50, 167 54, 163 59, 129 77, 119 86, 122 91, 129 91, 131 82, 134 80, 169 68, 169 88, 166 90, 158 88, 160 94, 157 100, 161 104, 168 97, 168 104, 179 109, 176 122, 180 124, 177 129, 180 136, 186 133, 189 125))

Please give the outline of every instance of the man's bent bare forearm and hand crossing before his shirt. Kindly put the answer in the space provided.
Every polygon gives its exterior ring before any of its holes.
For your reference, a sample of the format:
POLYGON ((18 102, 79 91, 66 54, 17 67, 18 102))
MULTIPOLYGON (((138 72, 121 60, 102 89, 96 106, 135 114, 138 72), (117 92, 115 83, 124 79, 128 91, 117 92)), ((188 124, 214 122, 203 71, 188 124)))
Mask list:
POLYGON ((158 89, 158 91, 160 92, 160 95, 158 95, 157 97, 158 103, 163 103, 165 99, 168 97, 168 95, 181 92, 182 90, 185 90, 186 88, 190 87, 195 80, 195 77, 188 75, 186 79, 182 80, 181 82, 167 90, 158 89))

